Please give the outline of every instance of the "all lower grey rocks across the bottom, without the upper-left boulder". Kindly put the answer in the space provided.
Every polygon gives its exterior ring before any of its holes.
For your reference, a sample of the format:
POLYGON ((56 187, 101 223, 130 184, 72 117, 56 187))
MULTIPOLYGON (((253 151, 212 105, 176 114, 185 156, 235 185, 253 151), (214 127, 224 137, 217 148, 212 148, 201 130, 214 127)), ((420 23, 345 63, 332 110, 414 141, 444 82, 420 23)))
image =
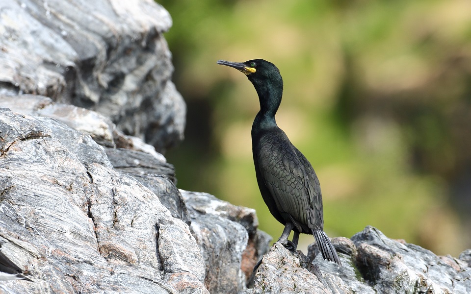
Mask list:
POLYGON ((315 245, 307 256, 278 243, 266 253, 254 210, 179 191, 162 155, 103 147, 55 119, 5 108, 0 136, 0 243, 34 280, 5 282, 6 293, 471 290, 469 250, 436 256, 366 227, 332 240, 342 267, 315 245))

